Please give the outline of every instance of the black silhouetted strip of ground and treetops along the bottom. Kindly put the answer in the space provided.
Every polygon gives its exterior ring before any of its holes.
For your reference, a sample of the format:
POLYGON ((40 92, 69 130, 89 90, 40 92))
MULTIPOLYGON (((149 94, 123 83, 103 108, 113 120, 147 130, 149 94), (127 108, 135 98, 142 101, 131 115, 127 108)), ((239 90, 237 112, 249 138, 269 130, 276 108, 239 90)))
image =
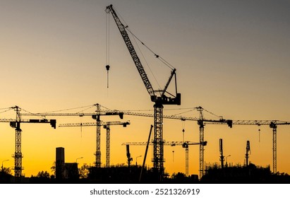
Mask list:
POLYGON ((218 165, 212 165, 206 168, 205 175, 199 180, 198 175, 186 176, 183 173, 174 173, 169 177, 165 174, 164 180, 157 180, 152 169, 143 170, 143 175, 140 180, 140 166, 117 165, 110 168, 87 168, 87 171, 78 170, 67 172, 65 177, 57 178, 54 175, 49 175, 47 171, 41 171, 37 176, 16 178, 9 173, 1 172, 0 183, 31 183, 31 184, 49 184, 49 183, 104 183, 104 184, 151 184, 151 183, 221 183, 221 184, 251 184, 251 183, 267 183, 290 184, 290 176, 285 173, 272 174, 270 166, 266 168, 257 167, 254 164, 246 166, 231 166, 219 168, 218 165), (80 173, 80 174, 79 174, 80 173))

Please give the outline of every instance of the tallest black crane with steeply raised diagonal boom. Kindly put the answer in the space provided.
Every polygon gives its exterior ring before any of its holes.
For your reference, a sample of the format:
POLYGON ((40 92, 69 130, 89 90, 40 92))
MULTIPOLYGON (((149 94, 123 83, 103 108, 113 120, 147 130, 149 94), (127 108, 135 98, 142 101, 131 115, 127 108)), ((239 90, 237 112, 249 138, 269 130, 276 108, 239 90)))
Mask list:
MULTIPOLYGON (((128 33, 126 31, 127 26, 121 23, 119 16, 117 16, 116 11, 114 10, 112 5, 107 6, 106 12, 111 13, 111 15, 113 16, 114 21, 116 22, 116 25, 118 26, 121 36, 123 37, 123 40, 126 44, 126 47, 128 48, 128 51, 131 54, 133 62, 136 68, 138 69, 138 72, 140 74, 140 77, 142 78, 145 88, 147 89, 147 92, 150 95, 151 101, 155 103, 154 105, 153 168, 155 169, 155 172, 157 173, 157 177, 158 177, 157 180, 161 181, 163 180, 163 176, 164 176, 163 126, 162 126, 163 125, 162 124, 163 123, 163 105, 181 105, 181 94, 177 93, 177 86, 176 86, 176 69, 174 68, 171 70, 171 75, 169 76, 169 80, 167 81, 167 84, 165 85, 164 89, 161 91, 155 91, 152 88, 152 85, 149 79, 147 78, 147 74, 145 73, 143 65, 140 62, 138 54, 135 52, 135 49, 130 40, 130 37, 128 36, 128 33), (171 98, 165 95, 165 93, 168 93, 167 88, 173 76, 175 78, 176 95, 172 95, 171 93, 169 93, 172 96, 171 98), (160 96, 157 96, 155 94, 157 92, 160 93, 160 96)), ((155 57, 159 58, 159 55, 155 54, 155 57)))

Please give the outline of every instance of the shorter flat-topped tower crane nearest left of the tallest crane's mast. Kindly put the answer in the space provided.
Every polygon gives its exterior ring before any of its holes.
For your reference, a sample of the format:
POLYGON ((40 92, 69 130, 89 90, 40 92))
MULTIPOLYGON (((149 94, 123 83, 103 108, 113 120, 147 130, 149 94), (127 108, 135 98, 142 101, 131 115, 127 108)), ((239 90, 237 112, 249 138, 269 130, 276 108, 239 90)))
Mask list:
POLYGON ((104 129, 107 131, 106 135, 106 167, 109 168, 110 166, 110 126, 111 125, 123 125, 123 127, 127 127, 130 124, 129 121, 127 122, 86 122, 86 123, 66 123, 66 124, 59 124, 59 127, 91 127, 91 126, 103 126, 104 129))

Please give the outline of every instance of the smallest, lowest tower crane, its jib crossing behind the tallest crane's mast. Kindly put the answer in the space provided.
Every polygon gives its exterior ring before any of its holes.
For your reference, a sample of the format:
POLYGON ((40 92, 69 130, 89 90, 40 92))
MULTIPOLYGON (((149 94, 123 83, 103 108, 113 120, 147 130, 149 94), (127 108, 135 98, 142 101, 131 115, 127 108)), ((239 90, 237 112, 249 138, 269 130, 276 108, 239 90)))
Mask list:
MULTIPOLYGON (((177 146, 180 145, 182 146, 182 148, 185 148, 186 150, 186 175, 188 176, 188 147, 190 145, 198 145, 200 144, 199 142, 192 142, 192 141, 164 141, 163 145, 164 146, 177 146)), ((121 145, 131 145, 131 146, 146 146, 147 142, 126 142, 126 143, 122 143, 121 145)), ((149 145, 154 145, 152 142, 149 143, 149 145)), ((206 146, 207 145, 207 141, 203 142, 203 145, 206 146)))

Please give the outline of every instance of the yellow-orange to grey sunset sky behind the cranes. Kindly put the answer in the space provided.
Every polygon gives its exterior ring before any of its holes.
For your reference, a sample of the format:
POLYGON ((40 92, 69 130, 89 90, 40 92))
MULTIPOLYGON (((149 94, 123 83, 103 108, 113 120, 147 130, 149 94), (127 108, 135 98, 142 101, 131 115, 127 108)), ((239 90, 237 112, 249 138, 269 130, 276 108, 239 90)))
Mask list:
MULTIPOLYGON (((202 106, 231 120, 290 121, 290 1, 0 1, 0 118, 15 118, 6 107, 18 105, 28 112, 52 112, 99 103, 111 110, 150 110, 143 82, 126 45, 109 19, 109 88, 107 88, 106 13, 113 4, 130 30, 177 71, 180 106, 165 106, 164 115, 202 106), (174 110, 169 110, 174 109, 174 110), (180 109, 180 110, 179 110, 180 109)), ((135 45, 135 42, 133 42, 135 45)), ((145 71, 153 88, 164 87, 170 69, 162 66, 139 44, 146 56, 145 71), (148 56, 148 57, 147 57, 148 56)), ((137 48, 137 47, 135 47, 137 48)), ((141 55, 140 55, 141 57, 141 55)), ((143 61, 143 59, 141 59, 143 61)), ((173 83, 172 83, 173 84, 173 83)), ((169 88, 173 90, 172 87, 169 88)), ((93 112, 94 108, 88 110, 93 112)), ((73 112, 73 110, 71 111, 73 112)), ((195 110, 181 115, 197 117, 195 110)), ((23 117, 28 118, 28 117, 23 117)), ((54 119, 52 117, 49 117, 54 119)), ((90 118, 55 117, 57 123, 93 122, 90 118)), ((205 112, 205 118, 218 119, 205 112)), ((119 117, 104 117, 104 121, 119 117)), ((111 127, 111 164, 126 163, 121 143, 147 141, 150 117, 125 116, 131 125, 111 127)), ((52 129, 49 124, 22 124, 23 173, 50 171, 55 148, 64 147, 66 162, 95 161, 95 127, 52 129)), ((164 120, 164 140, 199 141, 198 124, 164 120)), ((268 126, 206 125, 205 162, 219 163, 219 139, 229 163, 243 165, 246 141, 250 161, 270 165, 272 129, 268 126)), ((277 128, 277 171, 290 173, 290 126, 277 128)), ((102 129, 102 163, 105 130, 102 129)), ((164 147, 166 172, 185 171, 185 151, 164 147), (174 151, 174 154, 173 152, 174 151)), ((144 147, 131 146, 136 156, 144 147)), ((15 132, 0 123, 0 162, 13 168, 15 132)), ((189 173, 198 174, 199 148, 189 148, 189 173)), ((147 165, 151 166, 152 150, 147 165)), ((142 158, 138 158, 142 163, 142 158)))

